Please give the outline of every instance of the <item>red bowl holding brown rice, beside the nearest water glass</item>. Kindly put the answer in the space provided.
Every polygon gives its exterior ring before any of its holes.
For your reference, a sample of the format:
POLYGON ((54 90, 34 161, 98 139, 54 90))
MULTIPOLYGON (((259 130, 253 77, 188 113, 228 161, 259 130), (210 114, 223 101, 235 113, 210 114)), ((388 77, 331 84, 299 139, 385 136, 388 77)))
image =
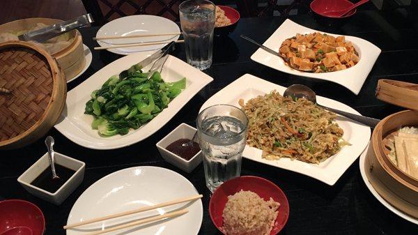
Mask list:
POLYGON ((274 183, 257 177, 257 176, 240 176, 234 179, 230 179, 215 190, 209 202, 209 214, 213 224, 224 234, 221 227, 223 225, 222 212, 229 195, 234 195, 235 192, 240 190, 252 191, 258 194, 265 201, 268 201, 270 197, 280 203, 279 213, 277 214, 276 222, 270 235, 275 235, 283 229, 284 225, 289 217, 289 203, 284 195, 284 192, 274 183))

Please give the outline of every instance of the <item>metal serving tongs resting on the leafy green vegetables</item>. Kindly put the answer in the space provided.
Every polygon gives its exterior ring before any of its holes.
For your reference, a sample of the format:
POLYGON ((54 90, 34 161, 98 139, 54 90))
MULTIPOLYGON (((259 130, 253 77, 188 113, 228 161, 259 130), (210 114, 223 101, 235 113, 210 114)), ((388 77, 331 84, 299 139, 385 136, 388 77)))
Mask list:
POLYGON ((123 70, 121 73, 119 73, 119 79, 123 80, 127 78, 130 73, 141 70, 146 66, 149 66, 151 63, 153 63, 153 66, 151 66, 150 70, 148 70, 148 78, 150 78, 153 73, 155 73, 155 71, 161 72, 165 61, 167 61, 169 52, 174 49, 174 44, 176 44, 176 42, 172 41, 171 43, 162 47, 160 50, 157 50, 157 52, 154 52, 154 54, 148 56, 143 61, 130 66, 130 68, 127 70, 123 70))

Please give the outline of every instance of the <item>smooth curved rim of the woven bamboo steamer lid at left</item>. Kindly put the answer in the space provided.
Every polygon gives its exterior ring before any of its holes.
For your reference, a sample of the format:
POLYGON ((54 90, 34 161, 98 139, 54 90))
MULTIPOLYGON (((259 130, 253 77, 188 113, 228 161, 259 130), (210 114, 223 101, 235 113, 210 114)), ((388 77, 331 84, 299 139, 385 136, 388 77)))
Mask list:
MULTIPOLYGON (((49 64, 49 68, 50 68, 50 72, 51 72, 54 84, 52 85, 51 98, 49 98, 48 105, 45 108, 45 110, 44 110, 42 116, 40 117, 40 119, 38 121, 36 121, 36 123, 34 123, 33 126, 31 126, 31 128, 29 128, 28 130, 25 130, 24 132, 20 133, 20 135, 17 135, 15 137, 11 138, 11 139, 6 139, 6 140, 3 140, 2 142, 0 142, 0 147, 8 146, 8 145, 13 144, 15 142, 19 142, 21 139, 23 139, 27 135, 30 135, 31 132, 36 130, 45 121, 45 118, 47 116, 47 111, 49 109, 51 109, 52 105, 54 105, 54 103, 55 103, 54 97, 56 97, 58 95, 58 92, 59 92, 59 83, 58 83, 58 80, 60 79, 59 75, 61 75, 61 79, 63 79, 64 82, 65 82, 65 78, 62 77, 63 72, 62 72, 61 68, 59 68, 58 63, 56 63, 56 59, 54 59, 47 51, 43 50, 42 48, 38 47, 37 45, 34 45, 33 43, 27 43, 27 42, 23 42, 23 41, 20 41, 20 40, 14 40, 14 41, 8 41, 8 42, 5 42, 5 43, 0 43, 0 50, 10 48, 10 47, 24 47, 26 49, 30 49, 30 50, 33 50, 35 52, 38 52, 40 55, 42 55, 47 60, 47 62, 49 64)), ((65 86, 64 95, 66 96, 66 86, 65 86)), ((64 98, 64 100, 65 100, 65 98, 64 98)), ((61 105, 61 107, 59 108, 59 110, 61 110, 61 112, 63 110, 64 105, 65 105, 65 102, 63 102, 63 105, 61 105)), ((54 122, 55 121, 56 120, 54 120, 54 122)))

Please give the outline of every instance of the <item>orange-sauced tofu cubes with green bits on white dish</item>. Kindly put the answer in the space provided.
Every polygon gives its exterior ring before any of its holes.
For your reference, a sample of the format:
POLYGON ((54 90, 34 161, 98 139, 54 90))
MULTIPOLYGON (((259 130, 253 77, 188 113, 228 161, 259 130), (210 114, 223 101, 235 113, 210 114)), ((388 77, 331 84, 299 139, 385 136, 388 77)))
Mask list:
POLYGON ((294 68, 313 70, 314 73, 334 72, 355 66, 359 56, 353 43, 344 36, 325 33, 297 33, 281 43, 279 53, 294 68))

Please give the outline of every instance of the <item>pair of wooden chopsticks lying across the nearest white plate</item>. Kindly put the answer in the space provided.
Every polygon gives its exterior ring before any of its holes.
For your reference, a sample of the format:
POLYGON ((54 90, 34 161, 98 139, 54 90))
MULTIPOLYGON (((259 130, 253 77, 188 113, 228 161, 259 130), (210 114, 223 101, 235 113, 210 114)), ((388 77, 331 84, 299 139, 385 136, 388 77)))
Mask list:
MULTIPOLYGON (((153 205, 153 206, 144 206, 144 207, 141 207, 139 209, 134 209, 134 210, 131 210, 131 211, 124 211, 124 212, 121 212, 121 213, 105 215, 103 217, 93 218, 93 219, 85 220, 85 221, 82 221, 82 222, 76 222, 74 224, 65 225, 63 228, 64 229, 71 229, 73 227, 78 227, 78 226, 81 226, 81 225, 87 225, 87 224, 91 224, 93 222, 99 222, 99 221, 102 221, 102 220, 109 220, 109 219, 113 219, 113 218, 122 217, 122 216, 125 216, 125 215, 132 215, 134 213, 139 213, 139 212, 143 212, 143 211, 150 211, 150 210, 153 210, 153 209, 157 209, 157 208, 161 208, 161 207, 165 207, 165 206, 171 206, 171 205, 179 204, 179 203, 182 203, 182 202, 189 202, 189 201, 193 201, 193 200, 196 200, 196 199, 200 199, 201 197, 203 197, 203 195, 195 195, 195 196, 191 196, 191 197, 184 197, 184 198, 176 199, 176 200, 173 200, 173 201, 170 201, 170 202, 163 202, 163 203, 160 203, 160 204, 156 204, 156 205, 153 205)), ((132 227, 132 226, 135 226, 135 225, 141 225, 141 224, 144 224, 144 223, 147 223, 147 222, 153 222, 153 221, 162 220, 162 219, 166 219, 166 218, 173 218, 173 217, 176 217, 176 216, 179 216, 179 215, 183 215, 187 212, 188 212, 187 209, 183 209, 183 210, 180 210, 180 211, 173 211, 173 212, 165 213, 165 214, 162 214, 162 215, 155 215, 155 216, 152 216, 152 217, 149 217, 149 218, 146 218, 146 219, 140 219, 140 220, 137 220, 137 221, 134 221, 134 222, 130 222, 130 223, 127 223, 125 225, 119 225, 119 226, 116 226, 116 227, 111 227, 109 229, 103 229, 103 230, 100 230, 100 231, 97 231, 97 232, 91 232, 91 233, 88 233, 86 235, 104 234, 104 233, 112 232, 112 231, 115 231, 115 230, 118 230, 118 229, 125 229, 127 227, 132 227)))

